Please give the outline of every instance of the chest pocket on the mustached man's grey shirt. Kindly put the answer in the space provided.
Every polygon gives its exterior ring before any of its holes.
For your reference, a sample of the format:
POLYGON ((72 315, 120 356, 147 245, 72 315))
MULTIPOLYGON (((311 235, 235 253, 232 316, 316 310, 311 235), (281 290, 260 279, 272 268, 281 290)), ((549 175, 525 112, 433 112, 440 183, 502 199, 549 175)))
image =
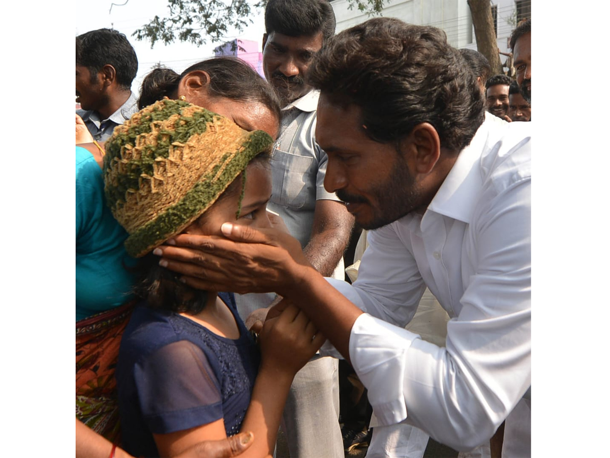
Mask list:
POLYGON ((274 173, 273 200, 290 208, 302 208, 307 199, 315 200, 314 158, 275 149, 271 159, 274 173), (281 178, 276 180, 275 177, 281 178), (312 177, 314 177, 312 181, 312 177), (279 197, 279 199, 278 199, 279 197))

